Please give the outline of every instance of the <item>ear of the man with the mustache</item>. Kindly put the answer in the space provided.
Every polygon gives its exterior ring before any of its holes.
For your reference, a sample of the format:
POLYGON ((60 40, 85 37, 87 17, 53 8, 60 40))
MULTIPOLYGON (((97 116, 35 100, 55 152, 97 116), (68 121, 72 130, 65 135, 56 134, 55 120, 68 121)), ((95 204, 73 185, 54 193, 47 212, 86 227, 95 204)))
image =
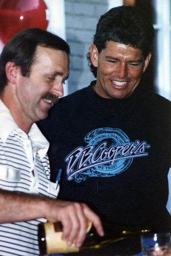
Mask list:
POLYGON ((16 78, 17 78, 17 73, 19 71, 19 67, 16 66, 15 62, 13 61, 8 61, 6 63, 6 76, 9 82, 16 84, 16 78))

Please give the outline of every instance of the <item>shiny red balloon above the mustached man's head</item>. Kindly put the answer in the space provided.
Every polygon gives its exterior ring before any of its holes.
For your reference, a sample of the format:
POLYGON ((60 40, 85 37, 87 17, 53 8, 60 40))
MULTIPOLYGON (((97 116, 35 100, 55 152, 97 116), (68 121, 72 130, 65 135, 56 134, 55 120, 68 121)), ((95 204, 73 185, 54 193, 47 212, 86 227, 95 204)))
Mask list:
POLYGON ((46 29, 47 6, 43 0, 1 0, 0 38, 4 44, 26 28, 46 29))

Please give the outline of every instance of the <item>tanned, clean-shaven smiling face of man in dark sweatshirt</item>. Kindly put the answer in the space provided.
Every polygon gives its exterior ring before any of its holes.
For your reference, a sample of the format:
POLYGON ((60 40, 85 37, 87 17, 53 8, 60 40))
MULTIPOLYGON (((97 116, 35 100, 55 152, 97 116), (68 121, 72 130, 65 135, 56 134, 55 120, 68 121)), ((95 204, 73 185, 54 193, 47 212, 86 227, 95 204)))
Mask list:
POLYGON ((95 92, 118 99, 133 94, 151 58, 151 53, 144 59, 140 49, 114 41, 107 41, 101 53, 92 45, 90 54, 92 65, 97 68, 95 92))

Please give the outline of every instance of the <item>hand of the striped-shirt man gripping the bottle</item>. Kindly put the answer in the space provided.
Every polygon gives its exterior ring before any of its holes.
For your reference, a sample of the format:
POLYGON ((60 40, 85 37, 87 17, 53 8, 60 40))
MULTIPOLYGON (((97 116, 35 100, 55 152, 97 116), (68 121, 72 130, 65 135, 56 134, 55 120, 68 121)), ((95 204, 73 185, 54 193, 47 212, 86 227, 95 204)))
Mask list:
POLYGON ((75 243, 77 247, 80 247, 83 244, 88 221, 93 223, 100 236, 104 235, 100 218, 86 204, 60 200, 56 202, 53 200, 53 203, 52 209, 47 211, 45 218, 48 221, 62 223, 62 239, 66 240, 68 245, 75 243))

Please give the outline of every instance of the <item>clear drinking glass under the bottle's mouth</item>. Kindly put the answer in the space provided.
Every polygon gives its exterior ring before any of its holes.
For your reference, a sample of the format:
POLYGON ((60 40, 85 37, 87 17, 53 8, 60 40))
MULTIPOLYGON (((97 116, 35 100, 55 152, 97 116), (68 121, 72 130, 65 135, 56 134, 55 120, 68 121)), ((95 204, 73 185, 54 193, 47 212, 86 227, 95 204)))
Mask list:
POLYGON ((142 255, 171 256, 171 236, 169 232, 141 236, 142 255))

